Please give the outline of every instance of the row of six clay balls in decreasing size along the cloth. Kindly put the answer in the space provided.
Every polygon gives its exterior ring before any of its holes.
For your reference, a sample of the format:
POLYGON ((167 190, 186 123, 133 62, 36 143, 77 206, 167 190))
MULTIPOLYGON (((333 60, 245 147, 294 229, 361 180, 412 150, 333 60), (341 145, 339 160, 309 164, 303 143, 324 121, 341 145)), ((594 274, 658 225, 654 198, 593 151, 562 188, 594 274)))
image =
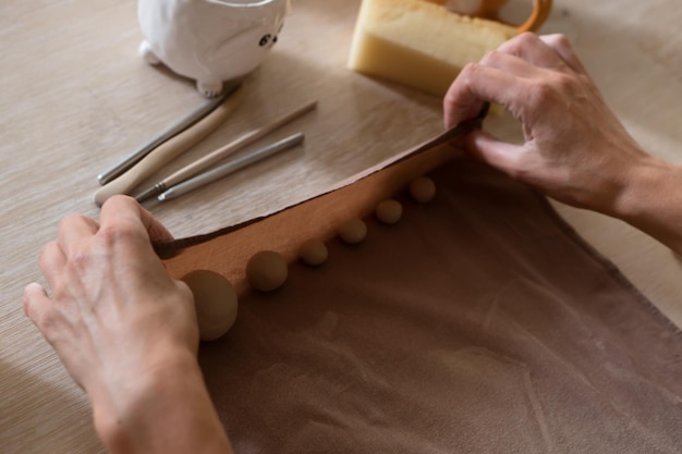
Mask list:
MULTIPOLYGON (((436 185, 428 177, 419 177, 410 184, 410 195, 419 204, 429 203, 436 195, 436 185)), ((377 205, 377 219, 394 224, 402 217, 402 205, 397 200, 383 200, 377 205)), ((346 244, 365 240, 367 225, 361 219, 351 219, 339 228, 339 237, 346 244)), ((319 240, 305 242, 300 249, 301 260, 312 267, 327 261, 327 246, 319 240)), ((289 267, 281 254, 263 250, 246 263, 248 284, 260 292, 271 292, 287 281, 289 267)), ((202 341, 214 341, 226 334, 236 320, 238 296, 234 287, 222 274, 210 270, 196 270, 182 278, 194 295, 196 317, 202 341)))

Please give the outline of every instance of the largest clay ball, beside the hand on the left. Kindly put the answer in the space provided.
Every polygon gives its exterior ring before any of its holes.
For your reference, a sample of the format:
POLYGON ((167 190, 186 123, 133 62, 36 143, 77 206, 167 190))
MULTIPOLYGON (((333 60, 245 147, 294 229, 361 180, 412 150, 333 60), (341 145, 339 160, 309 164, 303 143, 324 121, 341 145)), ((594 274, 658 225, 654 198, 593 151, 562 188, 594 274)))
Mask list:
POLYGON ((196 320, 202 341, 215 341, 227 333, 236 320, 238 297, 222 274, 196 270, 182 278, 194 295, 196 320))

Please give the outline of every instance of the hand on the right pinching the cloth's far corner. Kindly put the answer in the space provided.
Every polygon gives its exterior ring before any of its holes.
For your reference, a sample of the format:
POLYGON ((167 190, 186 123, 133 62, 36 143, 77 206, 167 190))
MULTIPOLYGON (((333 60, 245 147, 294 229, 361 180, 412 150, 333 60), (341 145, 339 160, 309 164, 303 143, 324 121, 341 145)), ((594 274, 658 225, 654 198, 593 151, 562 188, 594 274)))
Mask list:
POLYGON ((647 155, 605 103, 562 35, 522 34, 467 65, 443 99, 446 126, 501 105, 525 143, 483 131, 462 144, 472 156, 563 203, 618 216, 632 173, 647 155))

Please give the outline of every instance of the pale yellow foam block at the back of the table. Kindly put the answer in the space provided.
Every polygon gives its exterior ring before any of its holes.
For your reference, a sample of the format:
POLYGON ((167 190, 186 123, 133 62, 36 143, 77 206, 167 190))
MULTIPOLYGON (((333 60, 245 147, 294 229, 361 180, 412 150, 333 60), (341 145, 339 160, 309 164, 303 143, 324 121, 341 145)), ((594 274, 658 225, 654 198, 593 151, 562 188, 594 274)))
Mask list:
POLYGON ((363 0, 349 68, 437 96, 466 65, 507 39, 515 27, 472 19, 423 0, 363 0))

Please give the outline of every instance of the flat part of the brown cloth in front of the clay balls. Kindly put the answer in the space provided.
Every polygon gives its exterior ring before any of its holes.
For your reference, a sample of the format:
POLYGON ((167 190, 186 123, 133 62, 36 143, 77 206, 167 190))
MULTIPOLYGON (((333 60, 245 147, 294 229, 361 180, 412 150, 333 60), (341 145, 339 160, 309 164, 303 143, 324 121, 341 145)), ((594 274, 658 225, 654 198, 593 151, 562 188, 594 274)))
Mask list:
POLYGON ((464 159, 433 177, 200 346, 236 452, 682 452, 673 326, 525 186, 464 159))

